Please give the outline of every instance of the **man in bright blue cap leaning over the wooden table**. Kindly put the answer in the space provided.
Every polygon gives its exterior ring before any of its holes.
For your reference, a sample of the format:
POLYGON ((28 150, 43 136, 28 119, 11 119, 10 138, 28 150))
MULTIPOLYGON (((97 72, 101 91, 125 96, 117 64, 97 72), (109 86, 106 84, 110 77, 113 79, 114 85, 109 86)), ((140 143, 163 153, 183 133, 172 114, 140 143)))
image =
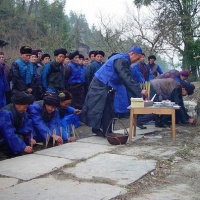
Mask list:
POLYGON ((95 73, 90 84, 84 106, 82 109, 82 121, 92 127, 92 132, 105 137, 110 121, 114 117, 114 97, 117 88, 124 84, 133 94, 146 95, 147 91, 141 91, 131 77, 130 65, 142 56, 142 49, 133 46, 129 52, 117 54, 107 60, 95 73), (103 132, 100 130, 103 129, 103 132))

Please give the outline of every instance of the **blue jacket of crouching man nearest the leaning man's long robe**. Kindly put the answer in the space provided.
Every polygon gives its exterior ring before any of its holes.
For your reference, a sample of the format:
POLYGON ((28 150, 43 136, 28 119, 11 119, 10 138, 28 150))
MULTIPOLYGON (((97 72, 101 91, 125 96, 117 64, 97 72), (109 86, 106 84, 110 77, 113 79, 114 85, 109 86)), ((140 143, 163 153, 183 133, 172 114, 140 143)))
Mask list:
POLYGON ((80 126, 80 119, 79 115, 74 114, 75 108, 69 106, 66 110, 62 110, 61 108, 59 110, 59 127, 62 128, 62 139, 64 141, 67 141, 67 139, 72 134, 72 126, 74 125, 75 128, 78 128, 80 126), (64 113, 61 113, 61 110, 64 111, 64 113))

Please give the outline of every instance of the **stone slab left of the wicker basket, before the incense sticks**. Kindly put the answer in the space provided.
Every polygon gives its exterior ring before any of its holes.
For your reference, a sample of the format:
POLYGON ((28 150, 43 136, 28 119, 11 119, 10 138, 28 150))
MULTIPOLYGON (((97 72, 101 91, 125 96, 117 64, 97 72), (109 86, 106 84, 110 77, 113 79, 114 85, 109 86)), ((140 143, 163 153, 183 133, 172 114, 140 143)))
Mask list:
POLYGON ((67 143, 54 148, 37 151, 36 154, 67 158, 72 160, 88 159, 96 154, 113 150, 114 146, 88 144, 81 142, 67 143))

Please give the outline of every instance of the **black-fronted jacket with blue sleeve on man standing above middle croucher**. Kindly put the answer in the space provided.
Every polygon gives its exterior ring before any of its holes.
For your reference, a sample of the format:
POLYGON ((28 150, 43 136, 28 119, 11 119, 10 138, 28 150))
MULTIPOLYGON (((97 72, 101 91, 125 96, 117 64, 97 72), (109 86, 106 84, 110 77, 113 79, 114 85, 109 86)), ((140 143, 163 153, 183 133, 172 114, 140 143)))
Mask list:
POLYGON ((47 63, 42 71, 42 87, 44 91, 58 92, 65 87, 64 67, 55 60, 47 63))

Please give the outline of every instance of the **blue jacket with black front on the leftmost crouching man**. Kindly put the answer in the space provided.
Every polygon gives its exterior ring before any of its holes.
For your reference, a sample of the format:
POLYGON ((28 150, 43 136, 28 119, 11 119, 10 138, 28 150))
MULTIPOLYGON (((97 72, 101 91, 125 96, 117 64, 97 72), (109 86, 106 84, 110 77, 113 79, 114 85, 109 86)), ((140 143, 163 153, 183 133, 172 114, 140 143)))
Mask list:
POLYGON ((19 114, 13 104, 9 104, 0 111, 0 141, 5 140, 12 153, 17 155, 30 145, 33 132, 32 122, 26 113, 19 114), (24 137, 22 140, 19 135, 24 137))

